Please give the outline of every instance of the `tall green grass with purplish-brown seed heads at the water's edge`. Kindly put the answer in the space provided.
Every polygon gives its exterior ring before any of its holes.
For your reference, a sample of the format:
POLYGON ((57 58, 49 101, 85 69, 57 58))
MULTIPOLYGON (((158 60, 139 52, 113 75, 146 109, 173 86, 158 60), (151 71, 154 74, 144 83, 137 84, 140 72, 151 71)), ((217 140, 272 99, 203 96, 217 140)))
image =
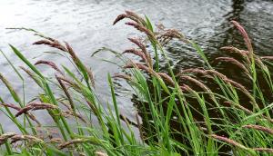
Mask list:
MULTIPOLYGON (((235 81, 233 75, 217 71, 202 49, 177 30, 161 27, 157 31, 147 17, 129 11, 118 15, 114 24, 123 19, 128 19, 130 22, 126 24, 146 37, 142 40, 129 38, 137 48, 128 49, 123 54, 110 50, 124 63, 122 73, 108 74, 112 95, 110 104, 101 102, 96 96, 93 73, 77 57, 70 44, 24 29, 42 38, 35 44, 48 45, 68 54, 76 70, 66 66, 60 68, 45 60, 30 63, 24 54, 10 45, 26 65, 20 68, 43 93, 37 93, 31 102, 24 102, 5 75, 0 73, 2 84, 15 100, 15 103, 10 103, 0 97, 1 111, 20 131, 5 132, 1 128, 1 153, 99 156, 273 153, 273 83, 270 73, 273 57, 258 56, 240 24, 232 21, 244 38, 247 49, 223 47, 227 55, 237 54, 237 57, 218 57, 214 63, 235 65, 244 75, 242 77, 247 77, 244 84, 235 81), (170 40, 192 45, 205 66, 175 73, 165 50, 170 40), (151 48, 147 49, 144 43, 151 48), (126 54, 135 54, 141 60, 132 61, 126 54), (160 68, 160 58, 167 63, 167 71, 160 68), (54 69, 56 76, 45 76, 36 68, 38 64, 54 69), (132 87, 136 122, 119 113, 113 78, 124 79, 132 87), (114 110, 111 110, 111 105, 114 110), (43 126, 43 122, 33 114, 36 110, 48 112, 53 125, 43 126)), ((96 53, 102 50, 107 49, 96 53)), ((23 80, 22 71, 6 59, 23 80)))

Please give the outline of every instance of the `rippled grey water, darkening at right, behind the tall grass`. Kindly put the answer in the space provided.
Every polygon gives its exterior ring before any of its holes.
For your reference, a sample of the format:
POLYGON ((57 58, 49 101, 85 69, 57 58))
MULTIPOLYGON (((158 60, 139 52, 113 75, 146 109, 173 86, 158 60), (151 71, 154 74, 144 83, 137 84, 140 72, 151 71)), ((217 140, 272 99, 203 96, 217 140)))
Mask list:
MULTIPOLYGON (((22 63, 8 48, 13 44, 35 63, 35 61, 51 60, 57 64, 67 64, 66 59, 53 54, 43 54, 52 51, 41 46, 34 46, 37 37, 30 33, 7 30, 6 27, 28 27, 43 34, 65 40, 72 44, 84 63, 91 66, 96 75, 96 92, 107 101, 110 97, 106 83, 106 73, 116 73, 119 69, 112 64, 102 62, 90 55, 96 49, 106 46, 122 52, 132 46, 126 41, 128 36, 136 34, 132 28, 124 24, 112 26, 116 15, 125 10, 133 10, 146 14, 152 22, 174 27, 187 37, 200 44, 205 53, 214 58, 222 55, 218 49, 224 45, 244 47, 237 31, 230 20, 237 20, 245 25, 254 43, 255 52, 260 55, 273 54, 273 2, 266 0, 0 0, 0 49, 8 58, 19 66, 22 63)), ((197 67, 202 61, 197 53, 185 44, 177 42, 167 46, 167 52, 172 64, 177 69, 197 67)), ((100 57, 115 61, 111 54, 100 54, 100 57)), ((22 93, 22 83, 12 68, 0 56, 0 73, 10 80, 18 93, 22 93)), ((53 71, 39 67, 45 74, 53 71)), ((26 76, 25 76, 26 77, 26 76)), ((25 78, 27 91, 26 102, 38 92, 38 87, 25 78)), ((119 93, 119 106, 122 113, 133 118, 135 109, 130 102, 131 94, 125 90, 119 93)), ((5 102, 13 102, 4 85, 0 83, 0 96, 5 102)), ((110 100, 110 99, 109 99, 110 100)), ((1 114, 2 118, 4 115, 1 114)), ((47 119, 44 119, 45 122, 47 119)), ((1 122, 5 129, 10 122, 1 122)))

